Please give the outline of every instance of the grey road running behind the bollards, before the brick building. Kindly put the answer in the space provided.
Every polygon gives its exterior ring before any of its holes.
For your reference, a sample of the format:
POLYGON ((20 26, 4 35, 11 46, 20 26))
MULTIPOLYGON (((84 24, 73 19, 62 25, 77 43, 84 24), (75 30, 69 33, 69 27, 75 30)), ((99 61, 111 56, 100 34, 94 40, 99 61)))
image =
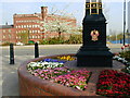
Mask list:
MULTIPOLYGON (((39 46, 40 56, 61 54, 61 53, 76 53, 81 45, 41 45, 39 46)), ((109 45, 112 52, 121 51, 120 46, 109 45)), ((15 56, 34 56, 34 46, 14 46, 15 56)), ((9 56, 9 47, 2 48, 2 56, 9 56)))

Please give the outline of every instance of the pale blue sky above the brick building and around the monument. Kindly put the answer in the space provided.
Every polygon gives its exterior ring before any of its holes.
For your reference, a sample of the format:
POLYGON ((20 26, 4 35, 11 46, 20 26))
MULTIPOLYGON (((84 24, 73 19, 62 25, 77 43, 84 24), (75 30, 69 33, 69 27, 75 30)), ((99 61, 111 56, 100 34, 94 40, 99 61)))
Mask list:
MULTIPOLYGON (((122 33, 123 23, 123 0, 102 0, 103 13, 107 20, 107 35, 112 33, 122 33)), ((127 0, 127 2, 130 0, 127 0)), ((0 0, 0 25, 13 24, 13 14, 40 13, 40 7, 48 7, 49 13, 55 12, 73 14, 77 19, 77 24, 82 25, 84 17, 86 0, 0 0)))

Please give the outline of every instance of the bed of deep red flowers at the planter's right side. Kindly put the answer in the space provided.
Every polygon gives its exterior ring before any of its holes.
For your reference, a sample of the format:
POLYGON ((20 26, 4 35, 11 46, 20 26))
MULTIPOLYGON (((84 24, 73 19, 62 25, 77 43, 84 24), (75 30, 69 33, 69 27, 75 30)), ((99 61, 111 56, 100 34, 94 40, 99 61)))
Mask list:
POLYGON ((130 75, 114 70, 102 71, 96 94, 107 97, 130 97, 130 75))

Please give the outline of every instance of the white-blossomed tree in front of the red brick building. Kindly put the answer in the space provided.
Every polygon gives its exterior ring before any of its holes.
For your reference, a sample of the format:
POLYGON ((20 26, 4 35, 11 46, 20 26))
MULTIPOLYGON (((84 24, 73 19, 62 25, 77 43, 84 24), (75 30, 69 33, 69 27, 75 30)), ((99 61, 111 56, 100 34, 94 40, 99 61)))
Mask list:
MULTIPOLYGON (((68 8, 70 4, 67 4, 66 8, 68 8)), ((44 20, 42 23, 42 29, 46 35, 46 33, 58 33, 58 38, 62 37, 63 34, 80 34, 79 27, 73 24, 73 21, 66 21, 66 17, 74 17, 73 13, 66 13, 65 9, 63 10, 56 10, 52 8, 50 19, 51 20, 44 20), (60 14, 60 15, 55 15, 60 14)), ((75 20, 75 19, 74 19, 75 20)), ((63 36, 64 37, 64 36, 63 36)))

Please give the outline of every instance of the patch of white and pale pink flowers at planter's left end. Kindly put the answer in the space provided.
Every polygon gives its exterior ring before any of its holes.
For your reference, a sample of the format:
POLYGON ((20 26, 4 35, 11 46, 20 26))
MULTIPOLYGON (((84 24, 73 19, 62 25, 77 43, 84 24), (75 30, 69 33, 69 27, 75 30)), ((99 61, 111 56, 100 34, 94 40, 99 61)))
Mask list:
POLYGON ((64 66, 63 63, 57 62, 30 62, 27 64, 27 70, 34 76, 38 76, 43 79, 51 79, 70 72, 70 70, 64 66))

